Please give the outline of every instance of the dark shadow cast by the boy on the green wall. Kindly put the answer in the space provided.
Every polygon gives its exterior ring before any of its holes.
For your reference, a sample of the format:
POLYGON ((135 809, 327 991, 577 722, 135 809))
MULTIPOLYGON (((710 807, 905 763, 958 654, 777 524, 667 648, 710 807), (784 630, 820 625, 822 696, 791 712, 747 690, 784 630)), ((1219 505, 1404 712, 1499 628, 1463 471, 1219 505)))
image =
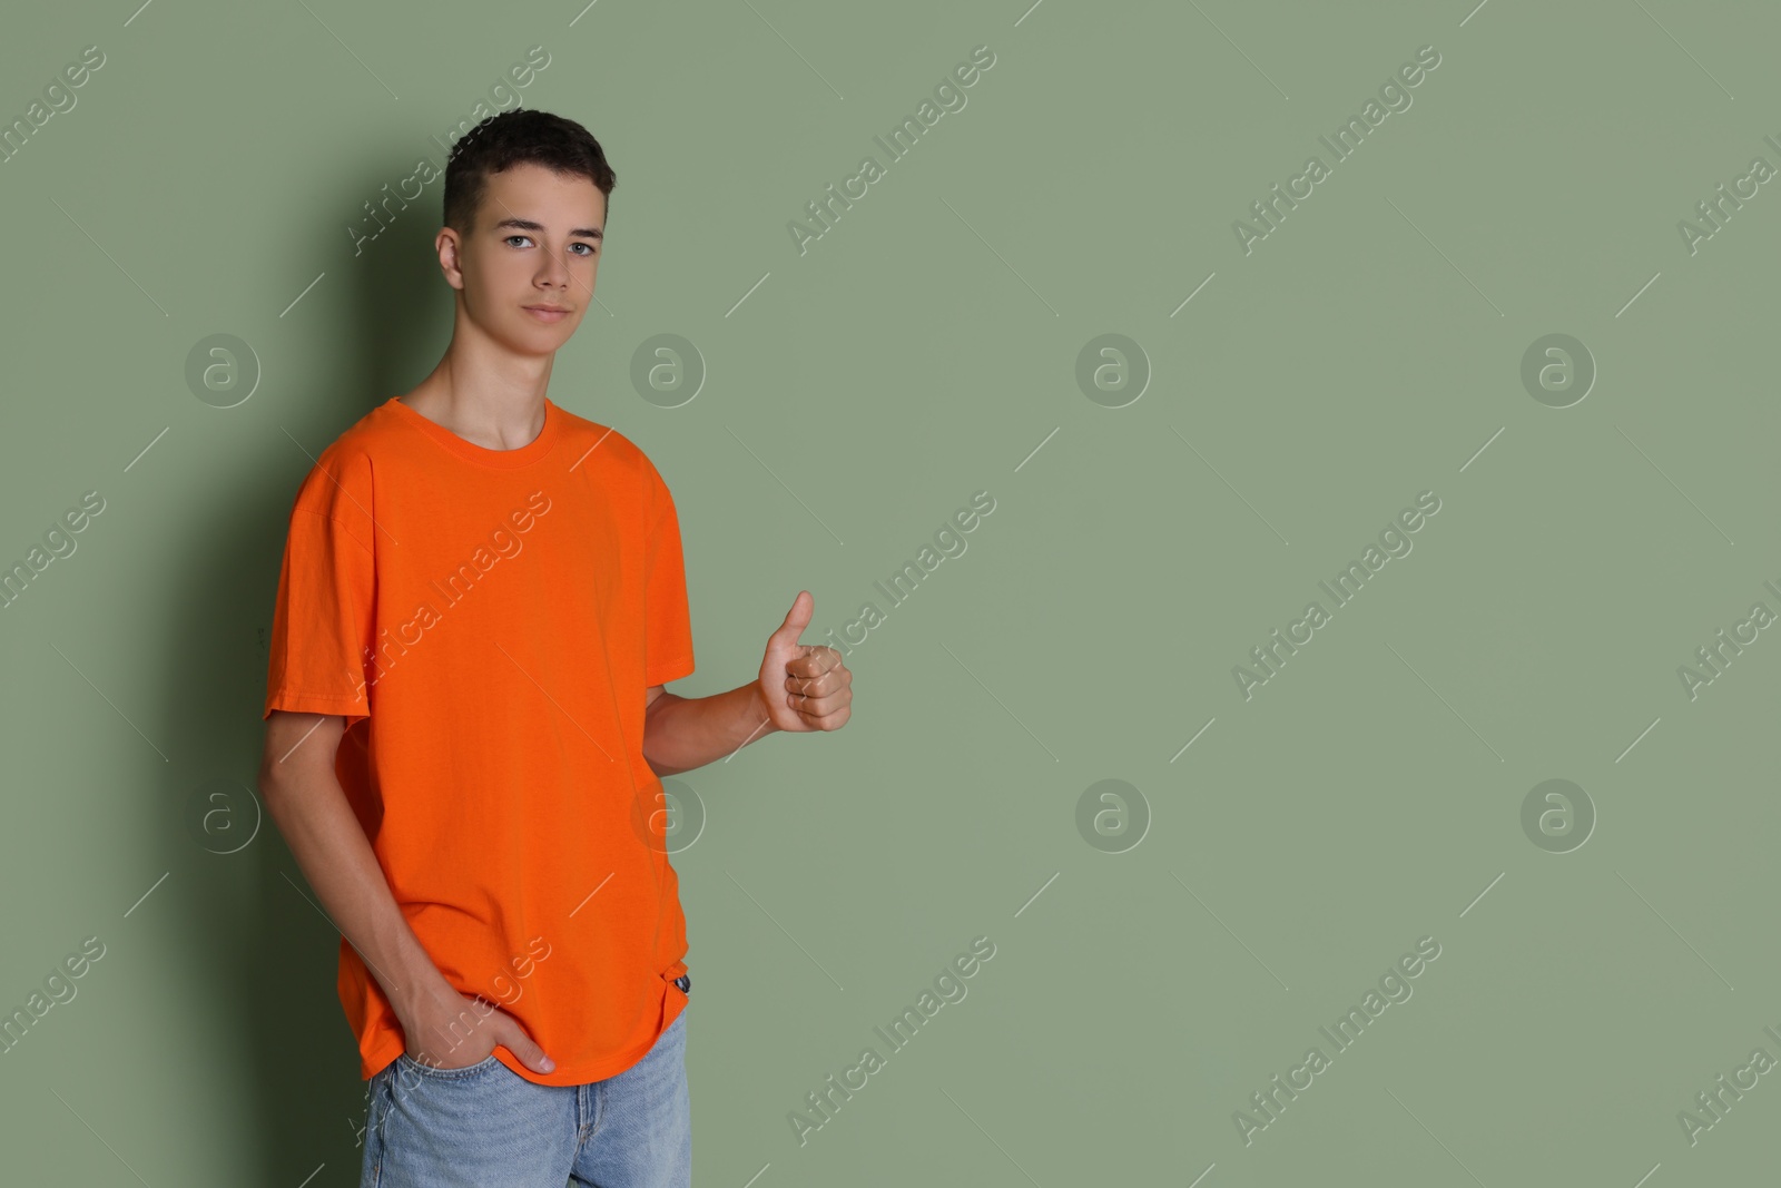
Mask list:
MULTIPOLYGON (((256 782, 272 606, 297 488, 329 442, 413 388, 451 340, 452 289, 433 251, 443 178, 360 255, 342 230, 363 217, 388 162, 411 151, 385 144, 333 173, 344 180, 305 203, 315 217, 294 228, 313 269, 292 290, 315 274, 321 283, 283 317, 240 331, 264 374, 251 399, 216 411, 235 420, 239 474, 216 476, 228 497, 210 500, 212 522, 185 536, 205 547, 178 570, 189 584, 160 657, 167 696, 151 734, 167 739, 162 796, 180 821, 160 839, 171 871, 160 894, 175 899, 164 910, 187 921, 185 997, 205 1008, 183 1026, 216 1029, 207 1051, 232 1058, 207 1074, 239 1085, 258 1129, 248 1145, 260 1167, 230 1168, 223 1183, 358 1184, 369 1103, 335 990, 340 933, 256 782)), ((262 278, 258 287, 283 283, 262 278)))

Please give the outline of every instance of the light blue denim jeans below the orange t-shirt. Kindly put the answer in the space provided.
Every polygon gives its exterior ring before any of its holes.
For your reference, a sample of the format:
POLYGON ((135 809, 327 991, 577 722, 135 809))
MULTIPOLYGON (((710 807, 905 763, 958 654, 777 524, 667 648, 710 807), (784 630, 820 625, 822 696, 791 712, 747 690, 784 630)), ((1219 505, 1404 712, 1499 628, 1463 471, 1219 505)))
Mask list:
POLYGON ((536 1085, 495 1056, 370 1078, 362 1188, 689 1188, 686 1008, 618 1076, 536 1085))

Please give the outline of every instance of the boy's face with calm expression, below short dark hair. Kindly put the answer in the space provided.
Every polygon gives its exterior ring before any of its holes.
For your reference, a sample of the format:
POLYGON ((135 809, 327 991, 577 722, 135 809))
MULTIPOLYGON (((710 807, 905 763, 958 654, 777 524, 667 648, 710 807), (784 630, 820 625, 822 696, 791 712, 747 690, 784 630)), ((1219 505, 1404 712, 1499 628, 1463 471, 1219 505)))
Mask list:
POLYGON ((598 185, 520 164, 488 176, 468 237, 440 232, 440 264, 483 333, 518 354, 550 354, 593 303, 604 228, 598 185))

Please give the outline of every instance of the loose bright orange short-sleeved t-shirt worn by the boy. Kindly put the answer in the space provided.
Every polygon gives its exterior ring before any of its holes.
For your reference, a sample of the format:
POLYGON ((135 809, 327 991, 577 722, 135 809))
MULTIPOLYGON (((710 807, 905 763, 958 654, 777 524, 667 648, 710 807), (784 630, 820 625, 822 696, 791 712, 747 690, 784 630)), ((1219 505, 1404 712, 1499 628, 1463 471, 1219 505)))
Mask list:
MULTIPOLYGON (((390 891, 556 1062, 497 1047, 527 1081, 623 1072, 686 1006, 643 693, 691 671, 673 499, 616 429, 547 399, 499 451, 390 397, 297 492, 262 716, 347 720, 335 771, 390 891)), ((346 937, 338 990, 369 1079, 406 1038, 346 937)))

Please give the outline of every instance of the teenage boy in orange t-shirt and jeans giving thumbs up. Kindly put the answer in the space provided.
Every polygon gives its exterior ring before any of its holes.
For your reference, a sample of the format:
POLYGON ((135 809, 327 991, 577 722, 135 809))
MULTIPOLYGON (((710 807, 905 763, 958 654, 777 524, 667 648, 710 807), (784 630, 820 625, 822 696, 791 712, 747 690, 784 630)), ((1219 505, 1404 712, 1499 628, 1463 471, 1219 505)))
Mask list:
POLYGON ((663 688, 693 671, 673 497, 629 438, 545 397, 614 183, 547 112, 454 146, 451 346, 322 451, 290 511, 260 791, 342 933, 378 1188, 689 1184, 659 777, 851 712, 839 652, 798 643, 809 591, 750 684, 663 688))

